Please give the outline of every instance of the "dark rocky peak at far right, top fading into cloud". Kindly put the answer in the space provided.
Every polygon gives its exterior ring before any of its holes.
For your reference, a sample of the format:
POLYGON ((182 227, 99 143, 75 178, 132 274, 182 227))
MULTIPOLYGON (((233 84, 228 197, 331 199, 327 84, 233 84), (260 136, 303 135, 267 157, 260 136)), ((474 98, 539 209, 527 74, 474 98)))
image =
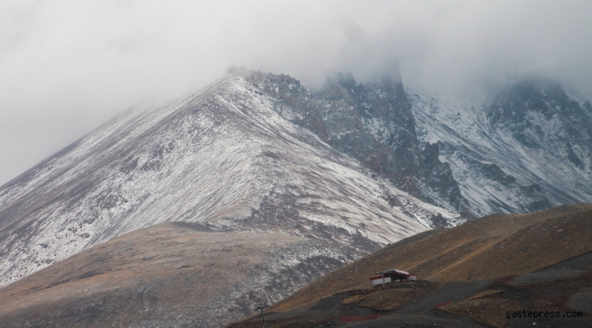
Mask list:
MULTIPOLYGON (((557 169, 564 170, 559 174, 573 183, 577 182, 574 176, 589 176, 592 171, 591 112, 589 102, 581 107, 556 82, 535 79, 502 92, 487 118, 493 128, 519 142, 532 156, 567 159, 570 167, 557 169)), ((590 189, 585 190, 590 195, 590 189)))

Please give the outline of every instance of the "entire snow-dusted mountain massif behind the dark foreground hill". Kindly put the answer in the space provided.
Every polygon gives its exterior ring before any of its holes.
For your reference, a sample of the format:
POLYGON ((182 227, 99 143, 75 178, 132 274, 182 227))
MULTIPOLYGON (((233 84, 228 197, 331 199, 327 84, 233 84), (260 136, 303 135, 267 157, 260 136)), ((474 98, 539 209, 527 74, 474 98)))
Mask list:
POLYGON ((122 113, 0 188, 0 319, 219 326, 417 233, 590 202, 591 119, 589 102, 542 78, 483 105, 393 76, 358 83, 334 74, 312 91, 286 75, 230 69, 189 97, 122 113), (171 263, 191 250, 221 255, 163 269, 144 254, 167 249, 158 234, 175 240, 171 263), (251 241, 236 259, 217 251, 251 241), (111 260, 93 260, 99 250, 111 260), (234 278, 209 277, 218 272, 234 278), (166 296, 189 281, 199 302, 166 296), (80 292, 77 283, 92 286, 80 292), (144 290, 162 297, 148 302, 144 290), (64 298, 51 307, 48 295, 64 298), (114 305, 121 300, 129 307, 114 305), (27 317, 29 303, 45 314, 27 317))

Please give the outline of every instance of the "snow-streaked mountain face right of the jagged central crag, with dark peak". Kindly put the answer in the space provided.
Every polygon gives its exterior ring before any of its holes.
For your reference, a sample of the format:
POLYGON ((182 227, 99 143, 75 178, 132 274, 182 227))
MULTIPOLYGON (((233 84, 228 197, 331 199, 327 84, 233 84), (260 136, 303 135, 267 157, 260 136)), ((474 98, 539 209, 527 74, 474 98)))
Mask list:
POLYGON ((592 110, 558 84, 522 80, 486 106, 408 93, 421 143, 438 146, 475 215, 592 201, 592 110))

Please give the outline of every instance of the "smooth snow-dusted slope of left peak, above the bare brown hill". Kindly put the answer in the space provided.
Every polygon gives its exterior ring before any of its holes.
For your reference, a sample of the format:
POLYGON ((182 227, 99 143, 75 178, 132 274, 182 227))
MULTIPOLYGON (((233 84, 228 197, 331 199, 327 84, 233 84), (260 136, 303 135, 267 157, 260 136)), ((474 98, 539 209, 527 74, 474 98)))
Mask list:
POLYGON ((231 75, 124 113, 10 181, 0 189, 0 286, 163 221, 277 231, 352 254, 434 218, 458 222, 282 118, 276 101, 231 75))

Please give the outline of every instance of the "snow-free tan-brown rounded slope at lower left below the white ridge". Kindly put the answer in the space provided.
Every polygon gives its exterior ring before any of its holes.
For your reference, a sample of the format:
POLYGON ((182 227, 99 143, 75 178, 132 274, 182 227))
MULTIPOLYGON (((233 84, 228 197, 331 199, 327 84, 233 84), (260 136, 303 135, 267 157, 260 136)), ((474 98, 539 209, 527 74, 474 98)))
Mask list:
POLYGON ((304 240, 158 224, 6 286, 0 326, 129 326, 168 316, 207 317, 209 302, 249 278, 270 251, 304 240))

